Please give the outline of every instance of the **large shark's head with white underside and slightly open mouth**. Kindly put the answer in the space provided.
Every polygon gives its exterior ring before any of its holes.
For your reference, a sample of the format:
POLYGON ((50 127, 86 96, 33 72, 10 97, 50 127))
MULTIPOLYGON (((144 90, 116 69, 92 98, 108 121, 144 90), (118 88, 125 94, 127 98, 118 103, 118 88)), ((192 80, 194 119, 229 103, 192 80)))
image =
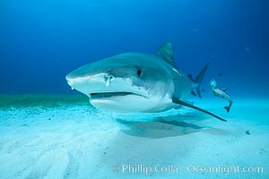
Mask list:
POLYGON ((126 53, 86 64, 66 75, 91 105, 113 112, 157 112, 174 90, 168 65, 154 55, 126 53))

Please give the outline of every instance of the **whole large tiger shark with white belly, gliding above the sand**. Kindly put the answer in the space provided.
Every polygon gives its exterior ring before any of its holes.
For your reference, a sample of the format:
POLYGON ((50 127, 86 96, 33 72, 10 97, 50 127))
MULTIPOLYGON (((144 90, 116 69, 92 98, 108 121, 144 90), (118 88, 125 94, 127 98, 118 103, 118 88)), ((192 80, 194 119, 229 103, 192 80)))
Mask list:
POLYGON ((156 55, 124 53, 85 64, 65 79, 73 90, 90 98, 93 107, 117 113, 157 113, 190 107, 226 121, 187 102, 189 94, 201 97, 200 85, 208 64, 197 75, 178 70, 172 44, 166 42, 156 55))

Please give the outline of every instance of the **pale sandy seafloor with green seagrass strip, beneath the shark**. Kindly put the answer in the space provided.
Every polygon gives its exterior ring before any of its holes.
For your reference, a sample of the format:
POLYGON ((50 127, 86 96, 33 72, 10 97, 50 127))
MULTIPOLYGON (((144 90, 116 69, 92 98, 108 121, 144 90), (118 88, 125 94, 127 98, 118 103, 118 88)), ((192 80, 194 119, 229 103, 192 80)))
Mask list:
POLYGON ((1 179, 269 178, 269 99, 235 99, 230 114, 195 99, 224 123, 188 108, 119 115, 87 98, 22 98, 0 98, 1 179))

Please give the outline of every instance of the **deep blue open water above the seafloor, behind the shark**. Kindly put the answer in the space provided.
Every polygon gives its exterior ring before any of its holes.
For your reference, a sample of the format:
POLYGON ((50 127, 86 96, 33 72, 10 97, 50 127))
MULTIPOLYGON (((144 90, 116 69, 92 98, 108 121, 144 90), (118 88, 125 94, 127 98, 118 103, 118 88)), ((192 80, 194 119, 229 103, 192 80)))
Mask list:
POLYGON ((123 52, 172 42, 179 69, 213 77, 238 98, 268 97, 266 0, 0 2, 0 93, 77 93, 65 75, 123 52))

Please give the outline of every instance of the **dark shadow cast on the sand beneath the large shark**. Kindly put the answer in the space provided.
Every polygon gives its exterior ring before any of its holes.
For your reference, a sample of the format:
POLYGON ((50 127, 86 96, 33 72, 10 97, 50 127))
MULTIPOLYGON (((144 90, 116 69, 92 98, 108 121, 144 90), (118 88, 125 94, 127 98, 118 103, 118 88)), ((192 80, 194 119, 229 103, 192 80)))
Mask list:
POLYGON ((187 114, 155 117, 149 122, 129 122, 117 119, 117 123, 121 124, 121 132, 128 135, 159 139, 210 129, 211 127, 201 124, 204 119, 205 117, 201 115, 187 114), (198 124, 194 124, 195 122, 198 124))

